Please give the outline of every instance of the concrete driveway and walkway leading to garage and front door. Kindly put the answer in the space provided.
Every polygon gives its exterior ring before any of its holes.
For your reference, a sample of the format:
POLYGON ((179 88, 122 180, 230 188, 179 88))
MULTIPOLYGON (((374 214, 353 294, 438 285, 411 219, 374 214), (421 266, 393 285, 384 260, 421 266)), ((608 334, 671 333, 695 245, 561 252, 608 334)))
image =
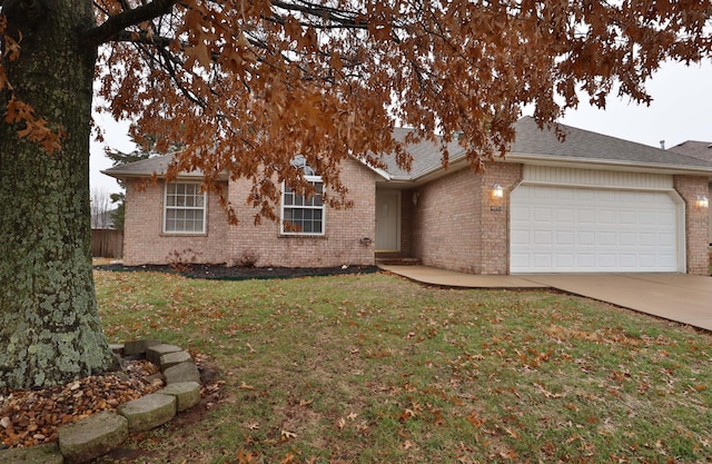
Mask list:
POLYGON ((477 276, 427 266, 380 266, 432 285, 471 288, 556 288, 712 330, 712 278, 686 274, 527 274, 477 276))

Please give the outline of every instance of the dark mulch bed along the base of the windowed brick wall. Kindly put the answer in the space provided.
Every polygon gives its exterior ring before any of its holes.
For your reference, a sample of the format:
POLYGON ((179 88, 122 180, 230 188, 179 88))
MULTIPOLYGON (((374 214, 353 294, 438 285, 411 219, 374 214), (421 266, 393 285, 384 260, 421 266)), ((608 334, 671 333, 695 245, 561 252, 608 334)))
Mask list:
POLYGON ((248 280, 268 278, 293 278, 310 276, 333 276, 343 274, 372 274, 379 269, 376 266, 337 266, 337 267, 241 267, 226 265, 145 265, 123 266, 110 264, 95 266, 95 269, 115 272, 160 272, 178 274, 189 278, 217 280, 248 280))

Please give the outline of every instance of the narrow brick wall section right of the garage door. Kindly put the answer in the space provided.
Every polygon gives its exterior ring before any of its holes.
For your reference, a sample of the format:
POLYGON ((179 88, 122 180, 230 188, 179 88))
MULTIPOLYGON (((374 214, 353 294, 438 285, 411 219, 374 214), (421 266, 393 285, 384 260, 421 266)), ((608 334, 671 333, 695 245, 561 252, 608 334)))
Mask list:
POLYGON ((673 176, 675 190, 685 201, 685 253, 688 274, 710 272, 710 209, 696 205, 698 196, 709 195, 709 179, 700 176, 673 176))

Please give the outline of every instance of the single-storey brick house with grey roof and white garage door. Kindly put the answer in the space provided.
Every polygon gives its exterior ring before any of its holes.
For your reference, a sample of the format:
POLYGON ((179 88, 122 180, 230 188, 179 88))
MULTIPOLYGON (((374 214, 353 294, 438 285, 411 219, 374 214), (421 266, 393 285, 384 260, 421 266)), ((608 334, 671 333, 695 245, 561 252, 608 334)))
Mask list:
POLYGON ((244 180, 226 181, 243 219, 230 226, 218 198, 200 191, 199 174, 185 172, 170 184, 161 179, 169 157, 103 172, 126 181, 128 266, 167 264, 177 256, 287 267, 402 257, 472 274, 708 274, 712 165, 561 127, 564 142, 522 118, 511 152, 488 162, 484 174, 468 167, 456 144, 447 169, 429 142, 408 147, 409 172, 388 157, 385 170, 349 159, 342 179, 353 209, 330 209, 318 197, 305 199, 283 187, 281 223, 258 226, 245 205, 244 180), (158 182, 146 182, 154 174, 158 182))

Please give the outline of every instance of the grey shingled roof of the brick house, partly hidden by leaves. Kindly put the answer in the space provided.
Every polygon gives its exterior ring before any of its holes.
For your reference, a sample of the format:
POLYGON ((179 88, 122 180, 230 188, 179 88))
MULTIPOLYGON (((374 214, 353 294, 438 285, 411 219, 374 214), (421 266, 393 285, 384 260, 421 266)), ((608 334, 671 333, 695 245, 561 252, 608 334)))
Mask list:
MULTIPOLYGON (((585 165, 587 167, 597 165, 600 167, 630 170, 665 170, 670 174, 704 172, 712 176, 712 162, 709 159, 673 151, 678 147, 663 150, 565 125, 558 125, 560 130, 565 134, 564 141, 561 141, 556 137, 555 130, 540 129, 534 118, 528 116, 516 121, 514 128, 516 140, 506 155, 505 161, 562 166, 585 165)), ((394 137, 396 140, 404 140, 406 135, 412 131, 413 129, 397 128, 394 130, 394 137)), ((431 179, 432 176, 441 176, 445 174, 445 170, 443 169, 439 148, 437 144, 429 140, 409 145, 407 151, 413 157, 411 171, 398 167, 393 155, 384 155, 382 157, 385 169, 378 169, 377 171, 385 174, 384 178, 387 180, 408 182, 423 181, 431 179)), ((449 165, 453 169, 466 166, 465 150, 458 145, 457 140, 448 144, 447 148, 449 151, 449 165)), ((712 154, 710 154, 710 157, 712 158, 712 154)), ((171 160, 172 156, 168 155, 117 166, 101 172, 118 178, 161 175, 165 174, 171 160)), ((194 171, 187 176, 199 177, 201 174, 194 171)))

